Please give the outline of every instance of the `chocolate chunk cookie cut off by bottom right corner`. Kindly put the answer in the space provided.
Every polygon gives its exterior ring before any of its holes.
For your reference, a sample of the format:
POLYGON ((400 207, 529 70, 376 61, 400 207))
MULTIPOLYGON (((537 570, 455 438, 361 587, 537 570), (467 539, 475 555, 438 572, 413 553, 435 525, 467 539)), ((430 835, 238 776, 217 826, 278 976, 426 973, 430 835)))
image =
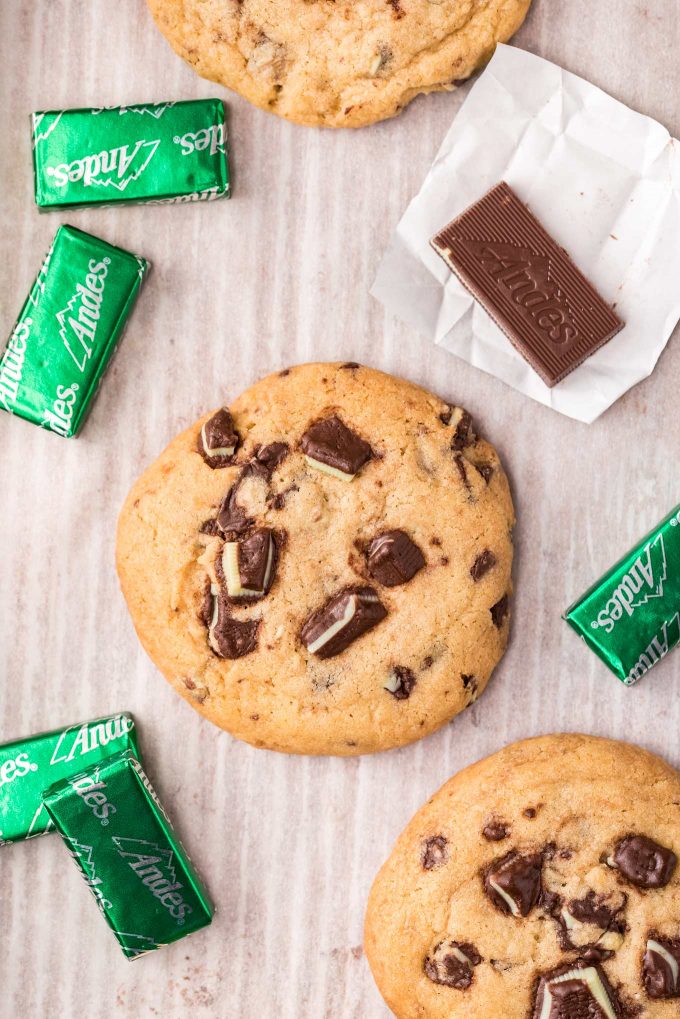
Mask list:
POLYGON ((398 1019, 677 1019, 680 773, 626 743, 545 736, 457 774, 368 902, 398 1019))

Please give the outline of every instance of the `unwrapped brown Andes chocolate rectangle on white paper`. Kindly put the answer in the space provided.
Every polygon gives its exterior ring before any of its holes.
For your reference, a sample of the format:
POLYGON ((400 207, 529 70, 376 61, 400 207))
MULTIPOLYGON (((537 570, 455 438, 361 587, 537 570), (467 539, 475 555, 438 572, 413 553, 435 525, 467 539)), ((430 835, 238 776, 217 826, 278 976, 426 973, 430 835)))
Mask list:
POLYGON ((547 386, 623 328, 505 181, 431 245, 547 386))

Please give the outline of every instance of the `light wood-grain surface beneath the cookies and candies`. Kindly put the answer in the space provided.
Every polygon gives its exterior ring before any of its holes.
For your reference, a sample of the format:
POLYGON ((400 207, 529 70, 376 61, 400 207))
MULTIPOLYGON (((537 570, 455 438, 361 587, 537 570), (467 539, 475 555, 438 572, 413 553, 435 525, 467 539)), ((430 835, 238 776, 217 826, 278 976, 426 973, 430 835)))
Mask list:
MULTIPOLYGON (((535 0, 516 42, 680 135, 677 0, 535 0)), ((132 710, 218 908, 207 931, 129 963, 56 836, 3 850, 0 1016, 383 1019, 364 902, 454 771, 554 730, 631 738, 680 764, 680 651, 627 690, 560 619, 680 499, 678 337, 587 427, 385 317, 369 283, 466 89, 359 133, 292 126, 227 96, 232 201, 62 216, 33 206, 32 110, 221 92, 171 54, 142 0, 0 0, 0 329, 60 222, 153 263, 82 436, 0 416, 0 740, 132 710), (116 584, 114 527, 133 479, 199 414, 265 372, 335 358, 455 398, 500 447, 519 518, 514 632, 482 699, 434 737, 296 759, 237 743, 155 672, 116 584)))

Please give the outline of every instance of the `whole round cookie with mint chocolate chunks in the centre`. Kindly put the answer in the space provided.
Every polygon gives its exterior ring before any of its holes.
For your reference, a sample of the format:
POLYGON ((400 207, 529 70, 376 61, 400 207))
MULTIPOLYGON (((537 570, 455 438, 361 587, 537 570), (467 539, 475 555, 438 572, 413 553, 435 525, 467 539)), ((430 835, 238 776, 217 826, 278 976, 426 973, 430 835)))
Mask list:
POLYGON ((304 365, 170 443, 127 497, 117 562, 142 643, 199 711, 255 746, 360 754, 486 686, 512 525, 468 414, 358 365, 304 365))

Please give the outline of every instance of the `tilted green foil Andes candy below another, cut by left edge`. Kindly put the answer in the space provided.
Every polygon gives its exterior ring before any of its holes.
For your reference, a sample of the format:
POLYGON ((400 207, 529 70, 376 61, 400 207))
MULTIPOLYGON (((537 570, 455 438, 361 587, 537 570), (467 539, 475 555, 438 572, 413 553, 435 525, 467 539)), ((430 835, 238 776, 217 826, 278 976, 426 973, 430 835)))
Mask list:
POLYGON ((0 357, 0 408, 77 434, 148 263, 60 226, 0 357))

